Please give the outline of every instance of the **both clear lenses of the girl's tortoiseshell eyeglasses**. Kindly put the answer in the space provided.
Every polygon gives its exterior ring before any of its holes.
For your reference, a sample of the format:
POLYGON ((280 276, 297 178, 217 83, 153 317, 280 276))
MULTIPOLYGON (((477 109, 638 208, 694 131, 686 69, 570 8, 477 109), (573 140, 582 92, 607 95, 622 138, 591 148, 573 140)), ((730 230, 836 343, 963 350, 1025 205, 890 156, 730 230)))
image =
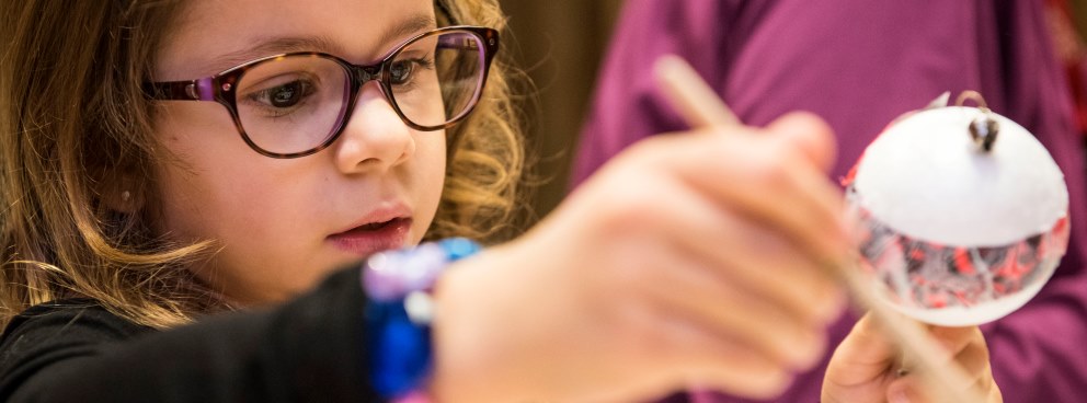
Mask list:
MULTIPOLYGON (((422 37, 387 65, 388 96, 402 117, 437 128, 473 105, 483 79, 482 39, 470 32, 422 37)), ((300 55, 254 66, 238 81, 238 118, 258 147, 302 152, 333 136, 347 115, 350 73, 335 60, 300 55)))

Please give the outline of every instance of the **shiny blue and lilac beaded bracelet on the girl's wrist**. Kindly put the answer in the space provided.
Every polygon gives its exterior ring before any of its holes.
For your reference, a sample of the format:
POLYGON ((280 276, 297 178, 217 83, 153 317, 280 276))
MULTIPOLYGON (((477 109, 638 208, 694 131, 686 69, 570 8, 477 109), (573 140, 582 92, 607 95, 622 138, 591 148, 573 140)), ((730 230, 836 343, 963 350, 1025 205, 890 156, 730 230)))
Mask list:
POLYGON ((453 238, 371 255, 363 265, 370 383, 386 399, 413 395, 431 370, 431 287, 445 267, 479 252, 453 238))

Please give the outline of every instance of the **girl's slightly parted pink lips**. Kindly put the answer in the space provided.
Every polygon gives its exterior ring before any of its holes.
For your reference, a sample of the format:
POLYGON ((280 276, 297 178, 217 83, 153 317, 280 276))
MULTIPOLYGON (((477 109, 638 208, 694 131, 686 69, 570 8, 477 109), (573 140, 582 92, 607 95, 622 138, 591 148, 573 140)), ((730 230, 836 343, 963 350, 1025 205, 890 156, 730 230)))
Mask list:
POLYGON ((408 242, 412 219, 407 207, 375 210, 352 227, 328 237, 336 249, 366 257, 374 253, 400 249, 408 242), (375 228, 367 226, 380 224, 375 228))

